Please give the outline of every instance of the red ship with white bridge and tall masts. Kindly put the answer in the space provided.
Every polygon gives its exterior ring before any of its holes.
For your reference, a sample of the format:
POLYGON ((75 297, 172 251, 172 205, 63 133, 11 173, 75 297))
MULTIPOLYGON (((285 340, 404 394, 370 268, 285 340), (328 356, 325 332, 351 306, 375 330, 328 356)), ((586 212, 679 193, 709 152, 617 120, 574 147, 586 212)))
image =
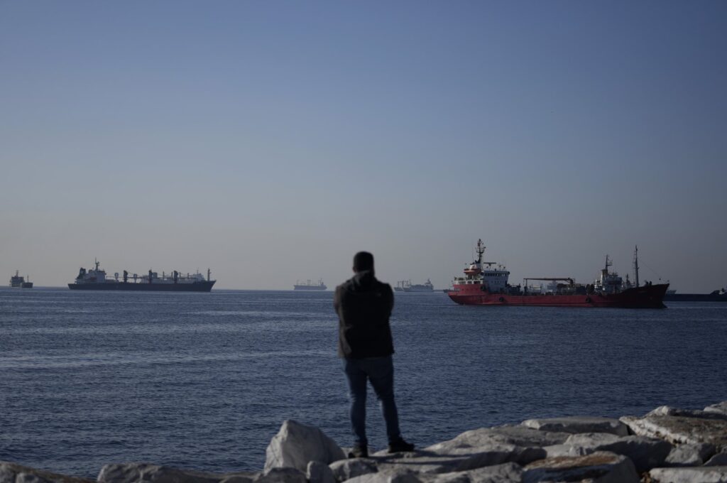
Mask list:
POLYGON ((635 284, 609 272, 611 263, 606 255, 606 266, 593 284, 576 284, 569 277, 529 277, 524 287, 510 285, 510 272, 496 262, 483 261, 485 246, 477 241, 477 260, 465 268, 465 276, 458 276, 447 292, 455 302, 468 306, 542 306, 542 307, 621 307, 664 308, 664 294, 669 284, 638 283, 638 249, 634 252, 635 284), (529 287, 528 282, 550 282, 547 289, 529 287))

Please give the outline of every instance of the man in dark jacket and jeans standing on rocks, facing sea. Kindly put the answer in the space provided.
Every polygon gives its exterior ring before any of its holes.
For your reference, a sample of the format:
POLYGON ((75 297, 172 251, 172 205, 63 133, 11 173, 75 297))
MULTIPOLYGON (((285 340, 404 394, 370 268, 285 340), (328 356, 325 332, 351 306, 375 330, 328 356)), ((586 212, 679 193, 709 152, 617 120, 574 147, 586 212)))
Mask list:
POLYGON ((338 356, 348 379, 350 418, 356 438, 349 458, 369 456, 366 439, 366 380, 381 403, 386 422, 389 452, 412 451, 404 441, 394 402, 394 353, 389 316, 394 293, 389 284, 374 276, 374 255, 358 252, 353 257, 354 276, 336 287, 333 306, 338 314, 338 356))

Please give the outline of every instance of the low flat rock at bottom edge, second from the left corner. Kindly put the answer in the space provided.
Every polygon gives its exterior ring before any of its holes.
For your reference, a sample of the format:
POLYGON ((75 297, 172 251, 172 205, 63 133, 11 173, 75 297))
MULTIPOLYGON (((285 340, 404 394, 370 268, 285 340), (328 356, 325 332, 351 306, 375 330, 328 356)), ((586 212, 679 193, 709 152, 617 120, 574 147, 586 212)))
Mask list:
POLYGON ((217 483, 221 479, 223 476, 220 474, 180 470, 152 463, 113 463, 101 468, 97 481, 100 483, 217 483))

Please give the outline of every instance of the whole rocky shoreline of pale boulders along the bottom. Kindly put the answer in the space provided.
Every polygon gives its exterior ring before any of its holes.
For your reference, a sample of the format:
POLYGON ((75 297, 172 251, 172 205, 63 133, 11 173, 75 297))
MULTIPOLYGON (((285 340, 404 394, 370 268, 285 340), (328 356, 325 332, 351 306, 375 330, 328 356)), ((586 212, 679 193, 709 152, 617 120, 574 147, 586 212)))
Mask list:
MULTIPOLYGON (((531 419, 466 431, 414 452, 347 459, 313 426, 286 420, 259 472, 213 474, 112 463, 99 483, 727 483, 727 401, 642 417, 531 419)), ((92 480, 0 462, 0 483, 92 480)))

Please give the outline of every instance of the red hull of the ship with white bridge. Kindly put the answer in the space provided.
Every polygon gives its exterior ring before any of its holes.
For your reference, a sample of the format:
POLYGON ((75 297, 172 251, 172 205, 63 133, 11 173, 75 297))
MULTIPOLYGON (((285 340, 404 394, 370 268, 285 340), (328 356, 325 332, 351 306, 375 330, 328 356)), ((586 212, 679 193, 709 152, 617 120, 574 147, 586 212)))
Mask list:
POLYGON ((668 287, 669 284, 644 285, 615 294, 507 295, 483 292, 481 285, 472 284, 457 285, 447 295, 465 306, 664 308, 664 294, 668 287))

